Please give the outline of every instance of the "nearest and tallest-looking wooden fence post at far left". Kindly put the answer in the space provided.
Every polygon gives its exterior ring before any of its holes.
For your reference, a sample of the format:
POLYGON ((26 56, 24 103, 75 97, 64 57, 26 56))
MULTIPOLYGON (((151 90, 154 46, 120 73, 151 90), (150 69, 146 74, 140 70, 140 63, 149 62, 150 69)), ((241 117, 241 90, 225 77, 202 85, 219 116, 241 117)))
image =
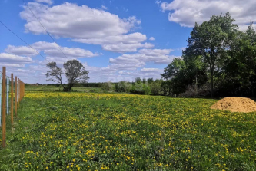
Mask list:
POLYGON ((6 147, 6 71, 5 67, 2 67, 2 148, 6 147))

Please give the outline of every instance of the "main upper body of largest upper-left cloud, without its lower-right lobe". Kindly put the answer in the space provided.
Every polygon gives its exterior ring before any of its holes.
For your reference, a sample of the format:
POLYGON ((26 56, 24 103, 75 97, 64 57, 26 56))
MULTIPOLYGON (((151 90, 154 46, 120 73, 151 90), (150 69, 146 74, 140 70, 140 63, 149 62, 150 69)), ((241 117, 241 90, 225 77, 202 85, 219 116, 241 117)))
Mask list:
MULTIPOLYGON (((68 2, 52 7, 28 2, 28 6, 50 34, 65 38, 102 38, 122 35, 140 23, 135 17, 121 19, 110 12, 68 2)), ((34 34, 45 34, 45 29, 35 20, 29 9, 24 8, 20 15, 27 21, 25 30, 34 34)))

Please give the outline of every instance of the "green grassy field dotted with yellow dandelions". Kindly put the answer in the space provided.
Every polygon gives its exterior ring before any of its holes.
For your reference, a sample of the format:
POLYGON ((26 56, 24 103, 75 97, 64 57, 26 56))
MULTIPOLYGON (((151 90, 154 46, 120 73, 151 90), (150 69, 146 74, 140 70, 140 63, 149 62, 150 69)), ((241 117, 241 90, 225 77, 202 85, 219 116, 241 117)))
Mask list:
POLYGON ((255 170, 256 113, 215 102, 27 92, 0 170, 255 170))

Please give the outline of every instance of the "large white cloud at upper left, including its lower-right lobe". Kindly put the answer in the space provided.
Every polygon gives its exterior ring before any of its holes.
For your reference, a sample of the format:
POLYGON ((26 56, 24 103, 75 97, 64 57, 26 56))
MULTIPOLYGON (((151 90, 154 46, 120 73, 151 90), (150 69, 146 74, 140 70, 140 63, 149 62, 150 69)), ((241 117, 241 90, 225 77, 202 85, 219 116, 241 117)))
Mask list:
MULTIPOLYGON (((118 15, 101 9, 68 2, 54 6, 28 2, 28 6, 53 36, 71 38, 71 41, 86 44, 99 44, 106 51, 120 53, 153 47, 143 43, 147 40, 146 35, 131 33, 141 24, 135 16, 119 18, 118 15)), ((26 6, 20 15, 26 21, 25 31, 37 35, 46 34, 45 29, 26 6)))

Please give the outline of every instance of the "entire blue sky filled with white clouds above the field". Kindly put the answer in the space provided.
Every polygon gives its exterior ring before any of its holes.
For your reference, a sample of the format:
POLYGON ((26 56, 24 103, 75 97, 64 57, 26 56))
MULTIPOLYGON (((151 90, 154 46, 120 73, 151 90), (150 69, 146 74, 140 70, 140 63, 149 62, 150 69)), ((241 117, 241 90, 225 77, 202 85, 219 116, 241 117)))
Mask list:
POLYGON ((70 59, 84 64, 89 82, 160 78, 194 22, 230 12, 244 30, 256 18, 255 0, 24 1, 2 0, 0 21, 32 48, 0 23, 0 67, 26 83, 47 83, 46 64, 70 59))

